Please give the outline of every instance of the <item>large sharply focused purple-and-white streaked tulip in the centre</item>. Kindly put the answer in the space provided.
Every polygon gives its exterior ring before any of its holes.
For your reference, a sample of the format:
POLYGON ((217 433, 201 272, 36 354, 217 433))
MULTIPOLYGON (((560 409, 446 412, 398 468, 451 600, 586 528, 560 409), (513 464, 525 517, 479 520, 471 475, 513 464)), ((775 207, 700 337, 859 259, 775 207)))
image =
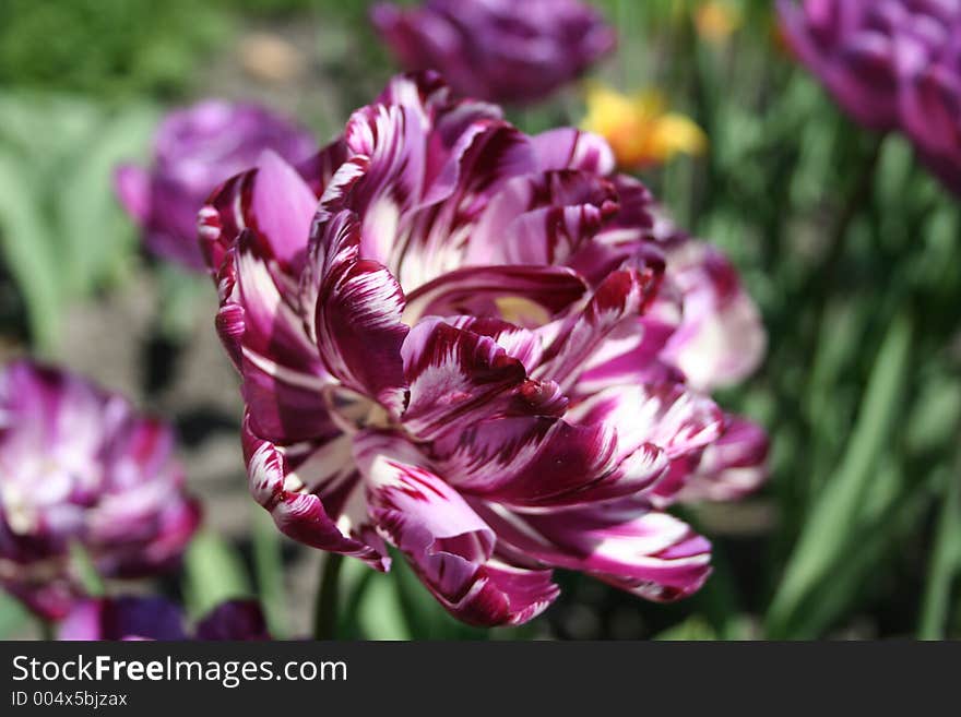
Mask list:
POLYGON ((700 587, 709 542, 657 505, 729 422, 668 347, 688 303, 726 303, 671 252, 665 271, 650 193, 613 171, 602 139, 525 135, 425 74, 312 160, 265 153, 212 195, 250 489, 283 533, 378 570, 392 545, 480 625, 541 612, 555 566, 654 600, 700 587))

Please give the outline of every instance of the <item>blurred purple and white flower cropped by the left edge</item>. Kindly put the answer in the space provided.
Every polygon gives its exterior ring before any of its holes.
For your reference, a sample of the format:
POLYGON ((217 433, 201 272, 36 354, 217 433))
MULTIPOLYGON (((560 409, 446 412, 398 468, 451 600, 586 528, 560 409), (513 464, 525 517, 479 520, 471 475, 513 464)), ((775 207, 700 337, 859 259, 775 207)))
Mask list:
POLYGON ((47 619, 82 594, 78 543, 105 576, 154 574, 200 521, 164 425, 52 369, 0 372, 0 584, 47 619))

